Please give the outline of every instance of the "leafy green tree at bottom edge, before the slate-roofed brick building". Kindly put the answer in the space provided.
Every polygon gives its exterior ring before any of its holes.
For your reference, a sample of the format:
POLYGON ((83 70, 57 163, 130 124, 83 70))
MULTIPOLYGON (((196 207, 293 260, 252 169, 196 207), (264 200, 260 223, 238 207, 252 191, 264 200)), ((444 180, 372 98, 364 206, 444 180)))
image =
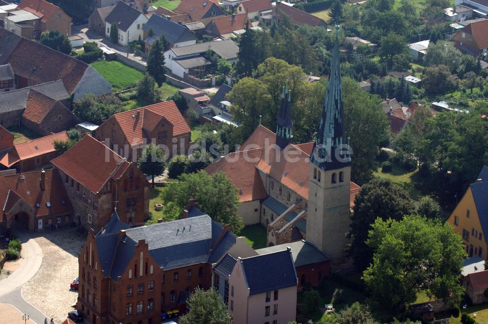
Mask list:
POLYGON ((180 324, 232 324, 227 305, 214 288, 197 287, 187 304, 190 311, 180 317, 180 324))

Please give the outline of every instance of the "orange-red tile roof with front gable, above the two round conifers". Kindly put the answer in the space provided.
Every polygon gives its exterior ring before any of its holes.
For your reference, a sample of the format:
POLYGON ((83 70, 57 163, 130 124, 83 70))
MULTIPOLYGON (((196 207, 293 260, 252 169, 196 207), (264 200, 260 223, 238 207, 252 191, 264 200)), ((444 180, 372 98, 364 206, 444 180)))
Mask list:
MULTIPOLYGON (((146 137, 142 132, 143 126, 153 129, 154 125, 163 118, 173 125, 173 137, 191 131, 172 100, 118 113, 113 115, 113 118, 121 126, 122 132, 130 145, 142 144, 143 139, 146 137), (139 118, 137 117, 138 115, 140 116, 139 118)), ((113 122, 113 120, 110 118, 105 122, 113 122)))

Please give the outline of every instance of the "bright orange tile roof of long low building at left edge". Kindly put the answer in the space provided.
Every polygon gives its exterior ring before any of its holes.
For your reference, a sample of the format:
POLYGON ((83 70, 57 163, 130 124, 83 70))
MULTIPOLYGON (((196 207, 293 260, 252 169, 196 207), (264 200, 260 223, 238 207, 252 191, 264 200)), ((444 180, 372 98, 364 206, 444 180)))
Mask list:
POLYGON ((22 142, 15 144, 14 147, 0 160, 0 164, 11 167, 13 164, 21 161, 34 158, 43 154, 54 152, 54 141, 66 141, 68 134, 63 131, 61 133, 52 134, 41 137, 36 140, 22 142))

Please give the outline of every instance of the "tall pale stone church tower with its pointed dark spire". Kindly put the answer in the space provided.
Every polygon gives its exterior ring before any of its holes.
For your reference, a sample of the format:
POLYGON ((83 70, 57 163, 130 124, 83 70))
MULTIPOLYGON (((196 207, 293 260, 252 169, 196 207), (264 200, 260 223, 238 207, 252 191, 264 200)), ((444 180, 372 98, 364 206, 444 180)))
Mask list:
POLYGON ((350 223, 351 160, 345 139, 338 33, 336 26, 324 109, 310 156, 306 239, 333 261, 341 262, 346 256, 345 234, 350 223))

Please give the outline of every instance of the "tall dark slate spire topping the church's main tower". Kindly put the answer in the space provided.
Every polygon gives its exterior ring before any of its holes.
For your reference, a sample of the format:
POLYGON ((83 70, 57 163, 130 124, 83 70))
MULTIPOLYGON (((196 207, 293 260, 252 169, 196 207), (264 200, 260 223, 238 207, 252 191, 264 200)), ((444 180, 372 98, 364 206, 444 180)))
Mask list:
POLYGON ((343 168, 351 164, 346 153, 344 103, 342 99, 341 64, 339 60, 339 26, 330 64, 330 77, 325 91, 324 110, 310 161, 323 170, 343 168), (344 147, 341 149, 341 147, 344 147))

